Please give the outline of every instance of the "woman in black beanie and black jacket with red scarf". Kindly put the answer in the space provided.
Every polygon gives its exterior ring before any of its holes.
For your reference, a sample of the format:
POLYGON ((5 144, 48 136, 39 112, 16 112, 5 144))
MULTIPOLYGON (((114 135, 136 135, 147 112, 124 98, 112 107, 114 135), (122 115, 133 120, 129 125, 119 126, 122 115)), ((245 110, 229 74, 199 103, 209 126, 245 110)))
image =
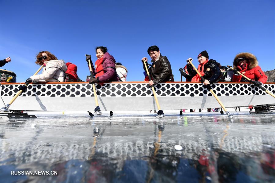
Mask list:
MULTIPOLYGON (((209 56, 206 50, 199 53, 198 55, 198 61, 199 61, 198 71, 205 79, 205 81, 203 82, 204 85, 215 83, 219 81, 221 77, 221 71, 219 68, 221 65, 218 62, 216 62, 216 60, 212 60, 212 59, 208 60, 208 58, 209 56)), ((190 60, 191 58, 188 58, 187 60, 188 64, 186 66, 187 66, 187 71, 189 75, 192 76, 191 81, 199 82, 201 79, 197 74, 197 72, 193 69, 192 65, 189 63, 190 60)))

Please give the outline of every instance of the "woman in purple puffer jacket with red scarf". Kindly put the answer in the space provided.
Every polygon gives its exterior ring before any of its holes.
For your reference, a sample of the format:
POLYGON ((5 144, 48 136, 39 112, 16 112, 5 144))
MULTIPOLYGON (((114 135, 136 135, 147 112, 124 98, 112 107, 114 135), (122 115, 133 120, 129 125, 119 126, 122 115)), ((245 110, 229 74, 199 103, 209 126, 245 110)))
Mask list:
MULTIPOLYGON (((116 73, 116 60, 107 52, 107 48, 98 46, 95 51, 98 59, 95 61, 95 78, 91 78, 89 84, 119 81, 116 73)), ((86 57, 86 60, 88 59, 91 59, 91 56, 86 57)))

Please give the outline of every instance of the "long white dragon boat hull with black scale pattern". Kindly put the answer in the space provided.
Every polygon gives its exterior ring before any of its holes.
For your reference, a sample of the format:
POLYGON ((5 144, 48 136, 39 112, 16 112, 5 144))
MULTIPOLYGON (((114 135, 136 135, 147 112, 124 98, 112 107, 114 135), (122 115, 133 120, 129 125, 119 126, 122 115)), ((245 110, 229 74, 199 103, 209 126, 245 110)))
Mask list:
MULTIPOLYGON (((0 107, 16 95, 24 83, 0 83, 0 107)), ((157 110, 148 82, 95 84, 101 111, 157 110)), ((211 85, 225 107, 274 105, 275 99, 248 82, 219 82, 211 85)), ((275 83, 263 85, 275 93, 275 83)), ((154 85, 162 110, 221 107, 200 82, 163 82, 154 85)), ((88 82, 32 83, 10 106, 10 111, 93 111, 95 97, 88 82)))

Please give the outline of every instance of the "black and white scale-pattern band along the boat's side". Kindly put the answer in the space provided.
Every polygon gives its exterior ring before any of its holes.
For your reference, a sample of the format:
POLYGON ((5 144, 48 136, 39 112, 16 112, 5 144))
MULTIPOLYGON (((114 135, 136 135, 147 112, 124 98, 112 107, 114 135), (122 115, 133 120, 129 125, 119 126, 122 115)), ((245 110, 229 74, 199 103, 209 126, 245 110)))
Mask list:
MULTIPOLYGON (((1 97, 15 96, 20 85, 1 85, 1 97)), ((275 84, 263 85, 271 93, 275 93, 275 84)), ((147 83, 106 83, 103 86, 96 84, 97 94, 100 97, 146 97, 153 96, 151 87, 147 83)), ((212 96, 199 83, 160 83, 155 85, 158 96, 212 96)), ((236 95, 267 95, 258 87, 250 84, 213 84, 212 88, 217 96, 236 95)), ((33 84, 28 85, 26 93, 20 96, 39 97, 94 97, 93 87, 86 83, 75 84, 33 84)))

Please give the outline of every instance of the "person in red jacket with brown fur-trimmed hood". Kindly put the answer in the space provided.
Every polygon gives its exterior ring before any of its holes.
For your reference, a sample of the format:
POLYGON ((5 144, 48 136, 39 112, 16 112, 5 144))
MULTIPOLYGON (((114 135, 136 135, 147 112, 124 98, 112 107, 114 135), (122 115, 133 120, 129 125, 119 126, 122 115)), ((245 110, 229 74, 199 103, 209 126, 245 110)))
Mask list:
MULTIPOLYGON (((239 53, 233 61, 234 69, 240 71, 243 75, 255 81, 255 86, 260 86, 266 83, 267 76, 258 66, 258 60, 255 55, 251 53, 239 53)), ((233 75, 233 82, 248 82, 243 76, 239 74, 233 75)))

